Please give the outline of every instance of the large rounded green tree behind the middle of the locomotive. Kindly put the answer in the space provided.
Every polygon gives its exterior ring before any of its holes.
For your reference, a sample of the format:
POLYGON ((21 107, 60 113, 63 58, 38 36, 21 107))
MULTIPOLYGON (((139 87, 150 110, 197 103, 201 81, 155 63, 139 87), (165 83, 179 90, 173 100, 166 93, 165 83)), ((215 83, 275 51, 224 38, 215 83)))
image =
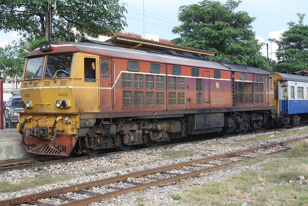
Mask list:
POLYGON ((241 1, 205 0, 198 4, 181 6, 180 26, 172 32, 180 38, 172 41, 178 45, 216 52, 211 60, 227 59, 239 64, 252 64, 269 70, 266 58, 260 55, 262 43, 255 39, 251 23, 256 19, 245 11, 234 10, 241 1))

